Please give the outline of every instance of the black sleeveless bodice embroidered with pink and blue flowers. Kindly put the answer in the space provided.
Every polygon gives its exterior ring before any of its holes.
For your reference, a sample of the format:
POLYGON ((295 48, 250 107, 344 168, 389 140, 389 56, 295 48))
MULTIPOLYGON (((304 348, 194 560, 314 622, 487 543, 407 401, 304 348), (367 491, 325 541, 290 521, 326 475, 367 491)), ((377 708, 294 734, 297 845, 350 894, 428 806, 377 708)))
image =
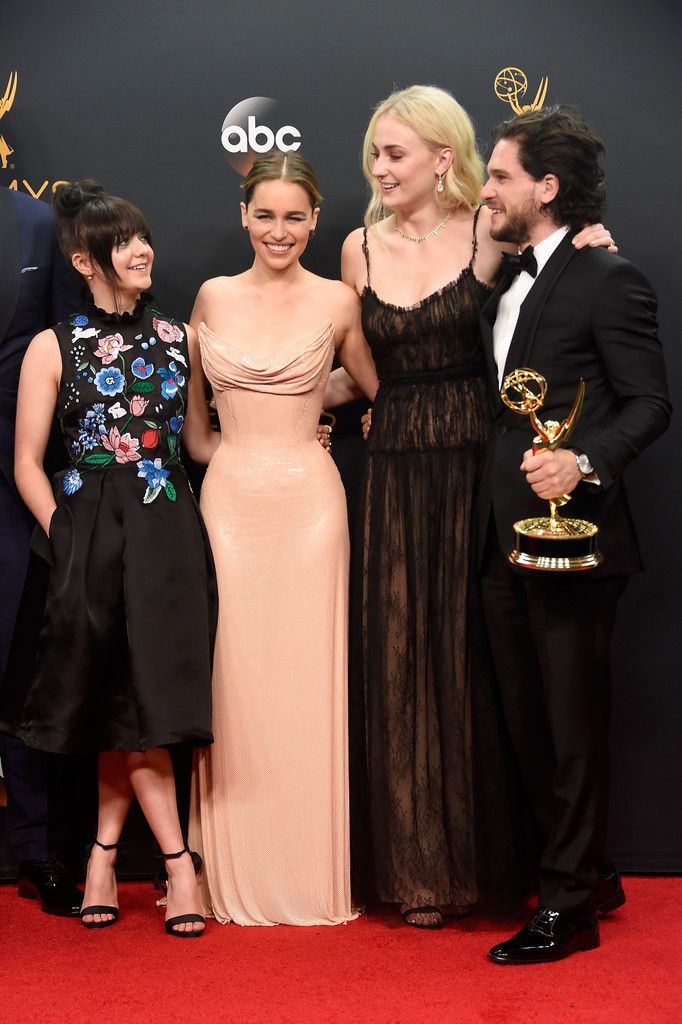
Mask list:
POLYGON ((68 496, 87 473, 117 468, 140 477, 140 500, 176 493, 170 467, 178 462, 189 378, 184 326, 143 295, 132 313, 95 306, 54 328, 61 352, 58 416, 71 467, 68 496))

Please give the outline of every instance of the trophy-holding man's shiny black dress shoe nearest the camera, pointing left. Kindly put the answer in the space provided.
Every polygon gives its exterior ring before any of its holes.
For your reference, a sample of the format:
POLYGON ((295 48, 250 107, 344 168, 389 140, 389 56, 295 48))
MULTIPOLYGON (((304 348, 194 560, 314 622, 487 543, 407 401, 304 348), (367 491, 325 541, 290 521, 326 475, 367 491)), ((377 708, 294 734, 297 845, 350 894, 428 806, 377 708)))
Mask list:
POLYGON ((496 964, 549 964, 598 945, 596 918, 577 921, 557 910, 540 907, 520 932, 493 946, 487 956, 496 964))

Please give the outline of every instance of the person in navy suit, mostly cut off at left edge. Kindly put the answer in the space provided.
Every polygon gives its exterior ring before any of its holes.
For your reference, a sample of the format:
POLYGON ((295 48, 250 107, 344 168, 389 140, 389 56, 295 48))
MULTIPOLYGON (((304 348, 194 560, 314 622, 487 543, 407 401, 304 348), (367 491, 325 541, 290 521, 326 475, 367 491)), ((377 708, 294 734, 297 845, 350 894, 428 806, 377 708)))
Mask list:
MULTIPOLYGON (((0 680, 25 587, 34 525, 12 472, 19 369, 31 338, 76 308, 78 291, 71 276, 57 249, 50 208, 0 188, 0 680)), ((37 636, 38 622, 24 625, 37 636)), ((8 698, 6 691, 3 698, 8 698)), ((61 761, 29 750, 10 736, 0 737, 0 758, 9 840, 19 861, 19 894, 40 899, 48 912, 78 914, 82 894, 53 847, 52 799, 61 761)))

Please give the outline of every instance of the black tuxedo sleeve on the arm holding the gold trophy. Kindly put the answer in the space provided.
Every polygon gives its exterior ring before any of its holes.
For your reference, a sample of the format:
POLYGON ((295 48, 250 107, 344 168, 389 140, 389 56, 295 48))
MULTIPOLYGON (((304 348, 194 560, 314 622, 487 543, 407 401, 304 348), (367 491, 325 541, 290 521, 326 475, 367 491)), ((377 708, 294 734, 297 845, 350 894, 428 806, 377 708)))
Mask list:
POLYGON ((632 263, 614 260, 601 282, 592 330, 616 412, 607 424, 576 431, 580 445, 606 488, 670 423, 672 407, 658 340, 656 296, 632 263))

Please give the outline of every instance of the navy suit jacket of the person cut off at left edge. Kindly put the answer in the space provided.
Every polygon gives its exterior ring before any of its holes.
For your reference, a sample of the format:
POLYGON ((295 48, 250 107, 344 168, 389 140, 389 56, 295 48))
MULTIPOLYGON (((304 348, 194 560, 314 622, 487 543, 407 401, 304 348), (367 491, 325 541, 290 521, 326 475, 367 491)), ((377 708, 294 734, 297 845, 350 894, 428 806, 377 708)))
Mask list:
POLYGON ((24 353, 34 335, 77 307, 78 296, 57 247, 50 207, 0 188, 0 473, 10 484, 24 353))

